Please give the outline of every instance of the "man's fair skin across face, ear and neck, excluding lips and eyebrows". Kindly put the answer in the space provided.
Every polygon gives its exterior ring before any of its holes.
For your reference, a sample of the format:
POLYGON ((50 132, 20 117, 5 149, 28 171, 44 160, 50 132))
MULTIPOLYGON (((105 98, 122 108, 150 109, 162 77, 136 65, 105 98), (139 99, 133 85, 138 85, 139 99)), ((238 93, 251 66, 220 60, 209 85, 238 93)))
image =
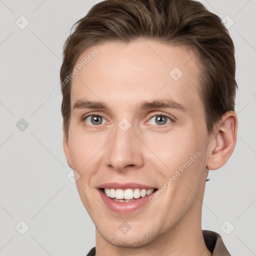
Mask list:
MULTIPOLYGON (((71 106, 79 99, 104 102, 107 110, 74 108, 63 148, 70 168, 79 173, 77 189, 96 227, 98 255, 211 255, 201 231, 201 208, 208 169, 218 169, 236 143, 237 117, 226 112, 207 134, 198 91, 199 60, 185 46, 149 39, 105 42, 78 58, 98 53, 72 79, 71 106), (174 80, 169 72, 183 75, 174 80), (136 108, 142 100, 168 98, 186 111, 136 108), (91 114, 103 116, 93 125, 91 114), (167 114, 164 125, 156 117, 167 114), (151 117, 154 115, 153 117, 151 117), (126 118, 127 131, 118 127, 126 118), (132 213, 116 213, 103 204, 97 186, 137 182, 160 188, 191 156, 200 156, 154 202, 132 213), (122 233, 126 221, 130 230, 122 233), (185 246, 184 246, 185 244, 185 246)), ((78 174, 77 174, 78 176, 78 174)))

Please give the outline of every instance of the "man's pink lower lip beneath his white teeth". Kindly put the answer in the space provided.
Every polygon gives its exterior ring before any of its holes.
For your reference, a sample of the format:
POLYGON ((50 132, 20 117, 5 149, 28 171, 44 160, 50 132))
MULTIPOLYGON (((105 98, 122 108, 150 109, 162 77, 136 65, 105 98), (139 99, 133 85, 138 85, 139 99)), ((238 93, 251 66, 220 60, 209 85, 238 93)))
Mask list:
POLYGON ((110 197, 106 196, 106 194, 101 189, 98 189, 98 191, 99 191, 99 194, 100 194, 103 202, 106 204, 106 206, 110 210, 115 211, 115 212, 121 212, 121 213, 130 213, 130 212, 140 209, 147 202, 149 202, 149 196, 154 194, 154 192, 156 192, 157 190, 152 192, 149 195, 140 197, 140 198, 135 199, 134 201, 130 201, 130 202, 117 202, 117 201, 111 199, 110 197))

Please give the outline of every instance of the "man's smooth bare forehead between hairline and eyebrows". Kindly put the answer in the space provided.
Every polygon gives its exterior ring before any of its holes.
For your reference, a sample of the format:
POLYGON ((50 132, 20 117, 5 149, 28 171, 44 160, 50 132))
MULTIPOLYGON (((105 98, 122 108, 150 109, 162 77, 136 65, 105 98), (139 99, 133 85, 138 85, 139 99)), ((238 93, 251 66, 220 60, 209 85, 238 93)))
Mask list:
POLYGON ((199 62, 186 46, 154 40, 106 42, 87 48, 77 59, 71 106, 86 98, 109 107, 129 107, 150 99, 170 98, 187 108, 201 107, 199 62), (97 52, 97 53, 93 53, 97 52))

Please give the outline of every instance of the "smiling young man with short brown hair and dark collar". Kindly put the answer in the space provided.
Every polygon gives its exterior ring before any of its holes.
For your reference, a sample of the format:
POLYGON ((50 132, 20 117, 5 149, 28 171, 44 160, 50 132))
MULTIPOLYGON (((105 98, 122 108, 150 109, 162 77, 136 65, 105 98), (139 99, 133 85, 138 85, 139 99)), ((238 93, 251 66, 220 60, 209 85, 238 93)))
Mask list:
POLYGON ((96 228, 88 255, 230 255, 201 229, 208 170, 235 143, 233 42, 192 0, 106 0, 60 70, 63 148, 96 228))

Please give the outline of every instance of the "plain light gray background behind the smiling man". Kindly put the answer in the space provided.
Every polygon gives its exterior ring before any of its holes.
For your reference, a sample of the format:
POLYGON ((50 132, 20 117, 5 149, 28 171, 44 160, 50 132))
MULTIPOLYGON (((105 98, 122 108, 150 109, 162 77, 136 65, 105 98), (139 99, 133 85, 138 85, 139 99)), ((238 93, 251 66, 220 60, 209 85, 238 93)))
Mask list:
MULTIPOLYGON (((71 25, 97 2, 0 0, 0 255, 86 255, 95 244, 94 225, 66 176, 62 96, 46 94, 59 84, 71 25), (21 15, 29 21, 24 29, 15 23, 25 24, 21 15)), ((237 144, 227 163, 209 172, 202 228, 218 232, 232 256, 256 255, 256 0, 201 2, 234 21, 239 87, 237 144)))

